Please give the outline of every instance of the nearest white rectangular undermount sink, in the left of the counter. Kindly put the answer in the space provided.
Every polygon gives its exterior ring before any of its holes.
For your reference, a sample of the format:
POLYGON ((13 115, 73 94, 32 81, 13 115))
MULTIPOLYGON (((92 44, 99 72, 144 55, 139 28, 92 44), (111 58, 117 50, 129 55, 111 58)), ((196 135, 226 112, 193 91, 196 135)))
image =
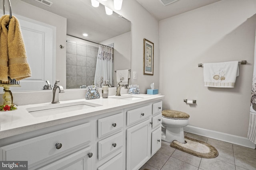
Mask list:
POLYGON ((26 108, 26 110, 34 117, 42 117, 47 115, 56 115, 59 113, 65 113, 69 111, 78 111, 98 106, 101 105, 81 101, 65 104, 51 104, 47 106, 29 107, 26 108))

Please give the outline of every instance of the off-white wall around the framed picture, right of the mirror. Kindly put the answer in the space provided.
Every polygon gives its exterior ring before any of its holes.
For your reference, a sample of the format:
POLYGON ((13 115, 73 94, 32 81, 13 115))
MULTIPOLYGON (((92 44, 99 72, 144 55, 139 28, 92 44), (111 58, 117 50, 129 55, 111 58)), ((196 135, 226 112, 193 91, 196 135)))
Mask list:
MULTIPOLYGON (((114 10, 113 1, 102 2, 114 10)), ((159 24, 145 8, 136 0, 123 0, 122 9, 116 11, 131 21, 132 52, 131 52, 131 82, 138 84, 141 93, 146 93, 150 84, 154 82, 159 88, 159 24), (154 43, 154 75, 143 75, 143 39, 154 43), (133 79, 133 72, 137 72, 137 79, 133 79)))

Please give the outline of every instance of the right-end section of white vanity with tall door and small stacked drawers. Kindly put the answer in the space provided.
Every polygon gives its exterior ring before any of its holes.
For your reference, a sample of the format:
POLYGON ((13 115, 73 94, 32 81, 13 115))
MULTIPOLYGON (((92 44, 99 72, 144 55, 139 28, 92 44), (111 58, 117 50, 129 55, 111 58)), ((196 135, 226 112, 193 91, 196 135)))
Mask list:
POLYGON ((162 101, 124 110, 126 170, 138 170, 161 147, 162 101))

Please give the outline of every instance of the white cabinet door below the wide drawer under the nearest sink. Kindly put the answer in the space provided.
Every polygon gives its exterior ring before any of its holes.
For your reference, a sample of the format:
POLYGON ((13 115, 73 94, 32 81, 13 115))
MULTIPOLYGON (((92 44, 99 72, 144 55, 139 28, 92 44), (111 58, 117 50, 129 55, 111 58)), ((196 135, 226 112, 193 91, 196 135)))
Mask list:
POLYGON ((87 147, 44 166, 40 170, 92 170, 92 158, 89 158, 90 150, 91 147, 87 147))

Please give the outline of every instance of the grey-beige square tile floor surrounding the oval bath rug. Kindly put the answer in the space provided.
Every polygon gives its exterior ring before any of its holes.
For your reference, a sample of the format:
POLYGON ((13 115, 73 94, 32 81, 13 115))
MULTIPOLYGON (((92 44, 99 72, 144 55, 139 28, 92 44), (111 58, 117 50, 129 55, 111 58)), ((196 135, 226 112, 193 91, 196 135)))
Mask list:
POLYGON ((218 141, 192 133, 185 136, 204 141, 214 146, 219 155, 216 158, 199 158, 170 147, 162 141, 162 147, 140 168, 144 170, 256 170, 256 149, 218 141))

